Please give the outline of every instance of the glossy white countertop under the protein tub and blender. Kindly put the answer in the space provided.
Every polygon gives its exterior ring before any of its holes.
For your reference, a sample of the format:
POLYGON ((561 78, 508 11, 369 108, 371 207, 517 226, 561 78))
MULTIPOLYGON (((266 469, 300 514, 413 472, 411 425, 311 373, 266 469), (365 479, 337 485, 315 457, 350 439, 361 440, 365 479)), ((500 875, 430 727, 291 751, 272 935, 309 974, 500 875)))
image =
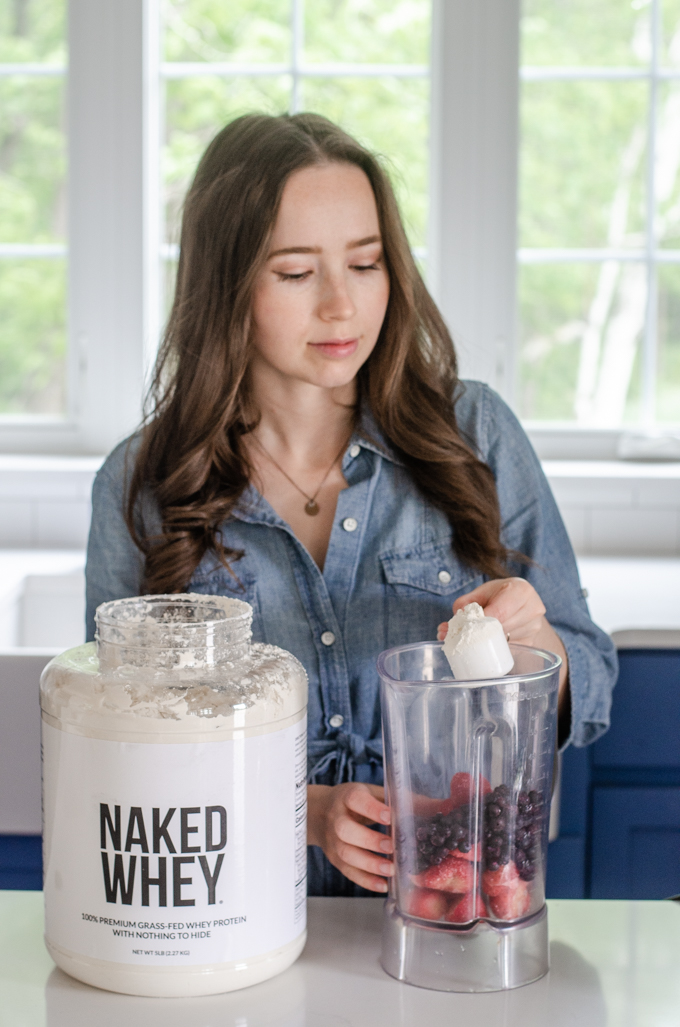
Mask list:
POLYGON ((552 900, 552 969, 486 995, 425 991, 378 963, 381 899, 310 899, 298 962, 264 984, 206 998, 135 998, 56 969, 42 895, 0 891, 2 1027, 675 1027, 680 905, 552 900))

